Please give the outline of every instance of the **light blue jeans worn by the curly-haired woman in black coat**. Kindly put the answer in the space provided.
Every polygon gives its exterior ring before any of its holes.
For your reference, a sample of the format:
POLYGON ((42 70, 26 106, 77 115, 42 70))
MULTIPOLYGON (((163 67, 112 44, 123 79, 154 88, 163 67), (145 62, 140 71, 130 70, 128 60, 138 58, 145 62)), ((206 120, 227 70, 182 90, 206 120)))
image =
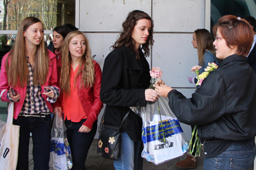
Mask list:
POLYGON ((116 170, 142 170, 142 141, 131 141, 126 132, 121 133, 121 152, 119 159, 114 161, 116 170))

